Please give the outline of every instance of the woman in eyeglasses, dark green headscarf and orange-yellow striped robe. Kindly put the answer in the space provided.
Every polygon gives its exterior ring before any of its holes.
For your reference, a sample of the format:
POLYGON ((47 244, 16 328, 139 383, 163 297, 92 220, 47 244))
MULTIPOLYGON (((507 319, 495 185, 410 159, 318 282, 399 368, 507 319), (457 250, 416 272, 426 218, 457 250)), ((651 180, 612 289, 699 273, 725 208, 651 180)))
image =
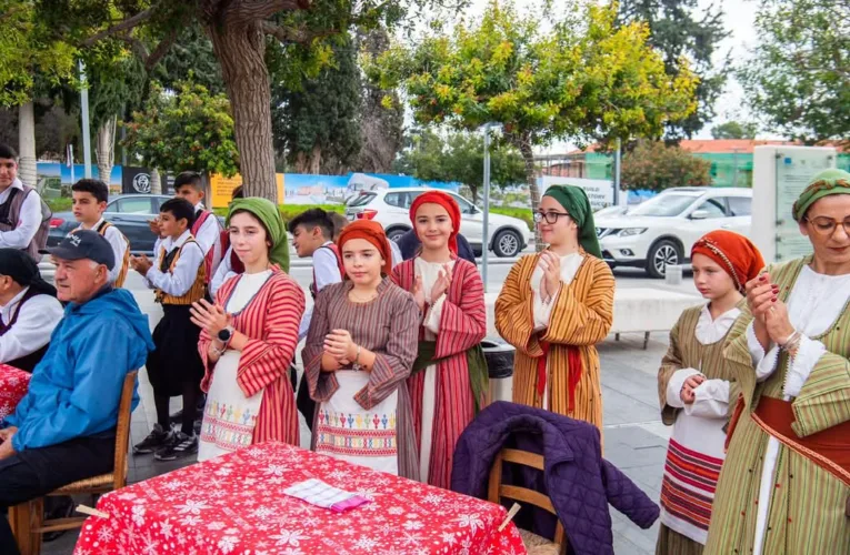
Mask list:
POLYGON ((602 427, 599 353, 611 330, 614 279, 602 261, 584 190, 550 186, 534 221, 547 250, 511 269, 496 327, 517 347, 513 401, 602 427))

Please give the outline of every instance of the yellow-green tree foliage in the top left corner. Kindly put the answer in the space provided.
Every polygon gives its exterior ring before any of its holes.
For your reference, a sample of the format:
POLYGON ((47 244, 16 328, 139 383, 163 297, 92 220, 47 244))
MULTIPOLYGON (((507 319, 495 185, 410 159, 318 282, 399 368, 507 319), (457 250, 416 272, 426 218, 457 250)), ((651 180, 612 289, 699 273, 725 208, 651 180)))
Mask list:
POLYGON ((60 84, 74 72, 77 49, 39 18, 36 2, 0 0, 0 105, 28 102, 39 81, 60 84))

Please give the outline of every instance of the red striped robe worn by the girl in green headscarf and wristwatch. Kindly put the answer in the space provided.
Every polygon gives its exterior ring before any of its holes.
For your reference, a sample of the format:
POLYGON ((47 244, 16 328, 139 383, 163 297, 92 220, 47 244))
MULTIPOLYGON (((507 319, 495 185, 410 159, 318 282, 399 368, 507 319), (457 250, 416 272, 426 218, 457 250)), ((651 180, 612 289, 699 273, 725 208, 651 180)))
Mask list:
MULTIPOLYGON (((216 303, 224 304, 241 275, 231 278, 216 293, 216 303)), ((231 325, 248 337, 237 372, 237 385, 247 397, 263 391, 262 404, 253 428, 253 443, 280 441, 299 444, 298 414, 289 365, 298 345, 298 326, 304 313, 304 293, 296 281, 280 268, 251 302, 231 320, 231 325)), ((201 389, 210 389, 216 366, 210 366, 210 335, 201 331, 198 349, 206 374, 201 389)))

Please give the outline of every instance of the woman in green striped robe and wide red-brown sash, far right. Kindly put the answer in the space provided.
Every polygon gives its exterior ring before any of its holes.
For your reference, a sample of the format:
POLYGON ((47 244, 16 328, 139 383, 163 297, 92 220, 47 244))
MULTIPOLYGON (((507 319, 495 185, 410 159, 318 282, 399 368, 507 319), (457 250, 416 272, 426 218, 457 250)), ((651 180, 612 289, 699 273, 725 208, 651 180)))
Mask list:
POLYGON ((817 174, 792 215, 813 253, 747 283, 726 344, 742 396, 707 554, 850 553, 850 173, 817 174))

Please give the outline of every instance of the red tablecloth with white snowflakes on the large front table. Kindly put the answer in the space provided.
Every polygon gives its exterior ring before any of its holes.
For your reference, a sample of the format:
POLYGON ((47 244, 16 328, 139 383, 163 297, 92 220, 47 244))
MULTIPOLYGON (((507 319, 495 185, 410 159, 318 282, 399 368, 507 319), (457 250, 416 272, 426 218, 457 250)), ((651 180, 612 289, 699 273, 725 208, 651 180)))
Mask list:
POLYGON ((282 443, 254 445, 100 498, 76 555, 524 554, 499 505, 282 443), (316 477, 371 503, 343 514, 281 493, 316 477))

